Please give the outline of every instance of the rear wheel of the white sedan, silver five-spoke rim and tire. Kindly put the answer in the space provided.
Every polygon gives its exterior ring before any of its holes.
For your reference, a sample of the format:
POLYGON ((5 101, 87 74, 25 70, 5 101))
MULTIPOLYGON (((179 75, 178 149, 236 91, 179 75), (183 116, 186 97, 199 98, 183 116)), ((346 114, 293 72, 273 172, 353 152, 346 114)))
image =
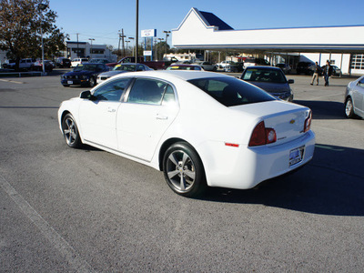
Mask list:
POLYGON ((167 185, 180 196, 198 197, 207 188, 201 159, 185 142, 177 142, 167 149, 163 172, 167 185))

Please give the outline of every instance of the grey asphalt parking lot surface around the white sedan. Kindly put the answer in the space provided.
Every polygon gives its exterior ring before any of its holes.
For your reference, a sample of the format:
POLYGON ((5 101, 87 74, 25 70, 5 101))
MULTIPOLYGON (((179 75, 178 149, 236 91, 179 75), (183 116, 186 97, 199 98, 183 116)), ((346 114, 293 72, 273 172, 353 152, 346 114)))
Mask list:
POLYGON ((0 272, 362 272, 364 120, 344 117, 347 77, 310 86, 314 159, 249 190, 174 194, 156 170, 66 147, 51 76, 0 78, 0 272))

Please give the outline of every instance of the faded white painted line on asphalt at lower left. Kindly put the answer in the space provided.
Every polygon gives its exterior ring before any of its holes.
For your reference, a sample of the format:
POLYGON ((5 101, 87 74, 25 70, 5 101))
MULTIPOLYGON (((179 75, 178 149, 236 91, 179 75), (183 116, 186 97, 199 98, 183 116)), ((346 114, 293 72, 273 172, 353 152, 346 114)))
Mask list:
POLYGON ((42 235, 54 246, 61 255, 66 258, 71 268, 77 272, 95 272, 85 259, 81 258, 74 248, 72 248, 65 238, 62 238, 51 227, 43 217, 41 217, 35 209, 26 202, 14 187, 12 187, 3 176, 0 175, 0 187, 5 190, 5 193, 13 199, 17 207, 19 207, 26 217, 28 217, 36 227, 39 228, 42 235))

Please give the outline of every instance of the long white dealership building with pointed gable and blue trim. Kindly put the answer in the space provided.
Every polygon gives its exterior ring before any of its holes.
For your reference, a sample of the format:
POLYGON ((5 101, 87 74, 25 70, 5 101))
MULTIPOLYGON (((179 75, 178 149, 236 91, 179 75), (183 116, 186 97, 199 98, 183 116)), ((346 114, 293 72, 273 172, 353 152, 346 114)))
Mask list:
POLYGON ((265 56, 272 64, 329 60, 344 74, 364 75, 364 25, 235 30, 216 15, 191 8, 172 45, 185 49, 236 51, 265 56))

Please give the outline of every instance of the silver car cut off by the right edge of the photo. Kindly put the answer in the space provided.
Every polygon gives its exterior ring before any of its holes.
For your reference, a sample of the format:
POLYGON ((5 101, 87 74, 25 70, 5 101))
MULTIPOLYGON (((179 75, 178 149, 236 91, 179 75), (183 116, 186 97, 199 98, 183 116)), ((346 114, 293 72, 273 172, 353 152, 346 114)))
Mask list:
POLYGON ((352 81, 345 92, 345 116, 364 118, 364 76, 352 81))

